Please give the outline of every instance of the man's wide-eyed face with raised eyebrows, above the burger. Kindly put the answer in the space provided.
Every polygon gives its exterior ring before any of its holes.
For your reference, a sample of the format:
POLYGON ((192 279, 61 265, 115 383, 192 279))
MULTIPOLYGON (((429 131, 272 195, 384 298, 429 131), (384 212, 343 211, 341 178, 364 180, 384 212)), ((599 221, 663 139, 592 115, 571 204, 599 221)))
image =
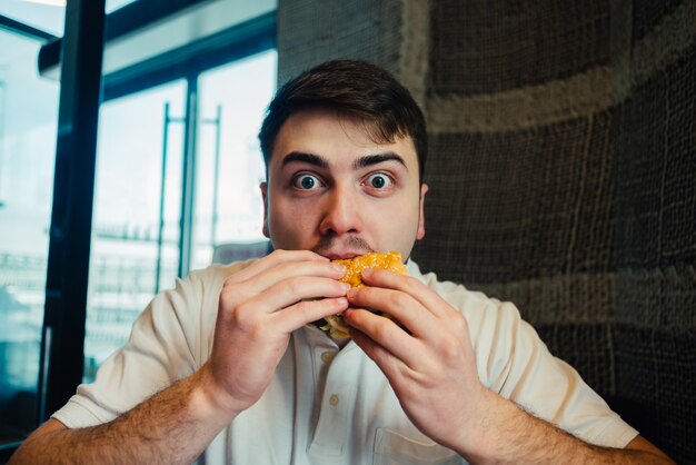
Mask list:
POLYGON ((410 255, 425 236, 418 158, 410 137, 376 144, 360 122, 301 111, 280 128, 261 185, 264 234, 277 249, 328 258, 410 255))

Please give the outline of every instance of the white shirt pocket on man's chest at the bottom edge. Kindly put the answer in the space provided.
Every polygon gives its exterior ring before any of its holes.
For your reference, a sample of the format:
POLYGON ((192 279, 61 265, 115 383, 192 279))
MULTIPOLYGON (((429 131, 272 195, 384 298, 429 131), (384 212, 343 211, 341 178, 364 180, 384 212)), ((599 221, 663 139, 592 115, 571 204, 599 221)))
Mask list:
POLYGON ((375 434, 372 465, 459 465, 466 464, 456 452, 431 441, 411 439, 387 428, 375 434))

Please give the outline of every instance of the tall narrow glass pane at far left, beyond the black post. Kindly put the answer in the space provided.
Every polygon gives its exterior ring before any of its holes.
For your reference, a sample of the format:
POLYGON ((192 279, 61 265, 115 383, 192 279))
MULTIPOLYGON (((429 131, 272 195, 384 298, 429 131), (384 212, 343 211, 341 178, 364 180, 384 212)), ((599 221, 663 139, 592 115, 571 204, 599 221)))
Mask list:
POLYGON ((0 444, 36 426, 59 85, 0 30, 0 444))

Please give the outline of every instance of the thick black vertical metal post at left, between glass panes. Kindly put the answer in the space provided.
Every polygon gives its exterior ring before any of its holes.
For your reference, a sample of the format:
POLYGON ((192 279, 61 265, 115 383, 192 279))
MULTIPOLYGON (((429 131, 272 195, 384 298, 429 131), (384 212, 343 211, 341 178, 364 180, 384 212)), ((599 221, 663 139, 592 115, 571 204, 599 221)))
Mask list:
POLYGON ((106 0, 70 0, 61 71, 39 423, 82 379, 106 0))

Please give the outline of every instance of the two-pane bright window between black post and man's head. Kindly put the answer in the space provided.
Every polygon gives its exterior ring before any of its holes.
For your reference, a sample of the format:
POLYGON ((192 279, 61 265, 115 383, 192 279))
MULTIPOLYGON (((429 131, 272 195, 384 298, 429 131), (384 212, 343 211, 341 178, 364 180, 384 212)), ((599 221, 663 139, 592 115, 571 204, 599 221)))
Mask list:
MULTIPOLYGON (((191 155, 193 224, 185 227, 193 229, 190 268, 196 269, 211 264, 216 245, 265 240, 257 133, 275 91, 276 50, 190 79, 198 89, 192 112, 199 117, 191 155)), ((185 102, 191 88, 177 80, 101 106, 84 382, 127 342, 155 294, 173 287, 178 276, 185 102)))

